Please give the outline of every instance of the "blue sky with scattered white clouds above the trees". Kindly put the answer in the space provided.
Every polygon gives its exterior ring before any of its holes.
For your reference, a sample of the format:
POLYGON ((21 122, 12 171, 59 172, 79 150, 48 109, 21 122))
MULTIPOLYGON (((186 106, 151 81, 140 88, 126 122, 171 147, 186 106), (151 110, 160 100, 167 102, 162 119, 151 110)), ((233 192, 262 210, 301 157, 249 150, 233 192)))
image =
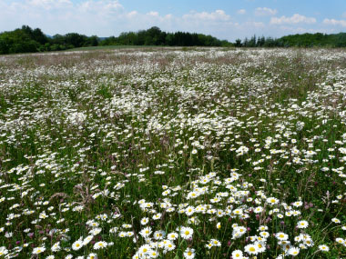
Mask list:
POLYGON ((158 26, 235 41, 346 31, 346 0, 0 0, 0 32, 110 36, 158 26))

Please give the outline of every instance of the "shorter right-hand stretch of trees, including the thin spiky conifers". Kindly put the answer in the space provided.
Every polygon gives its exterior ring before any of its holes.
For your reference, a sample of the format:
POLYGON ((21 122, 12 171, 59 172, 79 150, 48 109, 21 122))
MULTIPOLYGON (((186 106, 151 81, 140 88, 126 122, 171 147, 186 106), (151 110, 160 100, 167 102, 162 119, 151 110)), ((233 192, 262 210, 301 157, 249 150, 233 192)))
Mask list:
POLYGON ((254 35, 243 41, 237 39, 234 45, 238 47, 346 47, 346 33, 287 35, 277 39, 254 35))

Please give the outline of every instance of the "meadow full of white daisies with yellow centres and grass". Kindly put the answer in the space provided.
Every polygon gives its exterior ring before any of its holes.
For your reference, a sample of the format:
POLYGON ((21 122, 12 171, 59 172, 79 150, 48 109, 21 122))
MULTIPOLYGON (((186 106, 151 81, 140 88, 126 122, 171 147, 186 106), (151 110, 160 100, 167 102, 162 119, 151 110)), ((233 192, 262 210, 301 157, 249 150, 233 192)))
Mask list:
POLYGON ((0 56, 0 258, 346 258, 344 49, 0 56))

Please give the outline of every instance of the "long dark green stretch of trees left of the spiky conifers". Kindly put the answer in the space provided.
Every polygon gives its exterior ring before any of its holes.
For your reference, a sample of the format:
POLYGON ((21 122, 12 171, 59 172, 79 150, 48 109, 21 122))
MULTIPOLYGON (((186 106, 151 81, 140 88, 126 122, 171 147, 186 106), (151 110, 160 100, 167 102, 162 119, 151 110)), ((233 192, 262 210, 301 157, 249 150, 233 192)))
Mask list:
POLYGON ((47 36, 41 29, 32 29, 27 25, 0 34, 0 55, 58 51, 97 45, 229 46, 231 44, 211 35, 166 33, 158 27, 107 38, 99 38, 96 35, 88 37, 76 33, 47 36))

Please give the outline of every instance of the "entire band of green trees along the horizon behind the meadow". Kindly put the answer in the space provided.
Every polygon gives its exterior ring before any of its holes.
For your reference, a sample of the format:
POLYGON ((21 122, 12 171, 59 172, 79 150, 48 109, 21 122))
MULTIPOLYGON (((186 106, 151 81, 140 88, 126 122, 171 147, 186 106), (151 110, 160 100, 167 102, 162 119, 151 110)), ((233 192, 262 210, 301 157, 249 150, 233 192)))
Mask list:
POLYGON ((168 46, 237 46, 237 47, 345 47, 346 33, 336 35, 303 34, 287 35, 278 39, 272 37, 257 37, 244 40, 237 39, 235 43, 219 40, 211 35, 176 32, 166 33, 154 26, 148 30, 122 33, 119 36, 99 38, 96 35, 86 36, 76 33, 66 35, 45 35, 41 29, 32 29, 23 25, 20 29, 0 34, 0 55, 15 53, 34 53, 66 50, 76 47, 97 45, 168 45, 168 46))

